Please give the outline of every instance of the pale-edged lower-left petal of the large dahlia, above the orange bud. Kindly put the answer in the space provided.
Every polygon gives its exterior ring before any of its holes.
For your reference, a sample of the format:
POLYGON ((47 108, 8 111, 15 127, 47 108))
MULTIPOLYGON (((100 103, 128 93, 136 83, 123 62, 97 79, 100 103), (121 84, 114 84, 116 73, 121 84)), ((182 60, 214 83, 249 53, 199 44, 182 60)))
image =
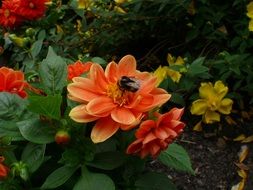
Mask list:
POLYGON ((80 123, 87 123, 87 122, 95 121, 96 119, 98 119, 97 117, 92 116, 87 113, 86 105, 78 105, 74 107, 70 111, 69 116, 74 121, 80 122, 80 123))

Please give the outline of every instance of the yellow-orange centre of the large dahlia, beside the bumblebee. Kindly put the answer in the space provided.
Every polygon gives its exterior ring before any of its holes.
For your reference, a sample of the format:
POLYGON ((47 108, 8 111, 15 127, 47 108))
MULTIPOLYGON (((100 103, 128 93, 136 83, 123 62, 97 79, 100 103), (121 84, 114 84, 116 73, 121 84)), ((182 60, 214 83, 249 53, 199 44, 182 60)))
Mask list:
POLYGON ((117 103, 120 106, 128 103, 127 92, 122 91, 118 84, 108 85, 106 93, 108 97, 113 99, 114 103, 117 103))

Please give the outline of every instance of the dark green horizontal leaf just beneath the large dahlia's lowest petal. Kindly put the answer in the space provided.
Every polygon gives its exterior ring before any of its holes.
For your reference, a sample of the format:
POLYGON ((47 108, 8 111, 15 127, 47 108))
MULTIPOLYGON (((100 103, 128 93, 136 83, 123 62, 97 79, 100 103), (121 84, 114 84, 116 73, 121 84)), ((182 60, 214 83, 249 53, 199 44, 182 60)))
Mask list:
POLYGON ((92 162, 87 165, 103 170, 113 170, 121 166, 126 161, 126 156, 122 152, 101 152, 95 154, 92 162))

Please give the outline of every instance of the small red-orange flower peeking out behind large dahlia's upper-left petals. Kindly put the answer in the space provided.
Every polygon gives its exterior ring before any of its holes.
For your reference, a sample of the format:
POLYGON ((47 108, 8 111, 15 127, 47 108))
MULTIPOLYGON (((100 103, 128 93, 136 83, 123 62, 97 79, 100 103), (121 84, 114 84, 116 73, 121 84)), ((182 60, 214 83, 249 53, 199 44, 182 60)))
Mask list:
POLYGON ((72 78, 79 77, 81 74, 89 71, 92 64, 92 62, 82 63, 81 61, 77 61, 68 65, 68 79, 72 80, 72 78))

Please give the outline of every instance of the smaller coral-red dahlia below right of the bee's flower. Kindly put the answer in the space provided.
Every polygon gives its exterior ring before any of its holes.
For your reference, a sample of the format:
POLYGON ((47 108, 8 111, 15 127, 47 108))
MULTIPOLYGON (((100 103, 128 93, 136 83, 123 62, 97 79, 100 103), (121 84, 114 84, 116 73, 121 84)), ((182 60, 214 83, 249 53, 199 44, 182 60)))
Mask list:
POLYGON ((155 113, 157 120, 146 120, 135 133, 136 140, 127 148, 127 154, 139 154, 141 158, 151 155, 157 157, 162 150, 183 131, 181 121, 184 109, 173 108, 168 113, 155 113))

